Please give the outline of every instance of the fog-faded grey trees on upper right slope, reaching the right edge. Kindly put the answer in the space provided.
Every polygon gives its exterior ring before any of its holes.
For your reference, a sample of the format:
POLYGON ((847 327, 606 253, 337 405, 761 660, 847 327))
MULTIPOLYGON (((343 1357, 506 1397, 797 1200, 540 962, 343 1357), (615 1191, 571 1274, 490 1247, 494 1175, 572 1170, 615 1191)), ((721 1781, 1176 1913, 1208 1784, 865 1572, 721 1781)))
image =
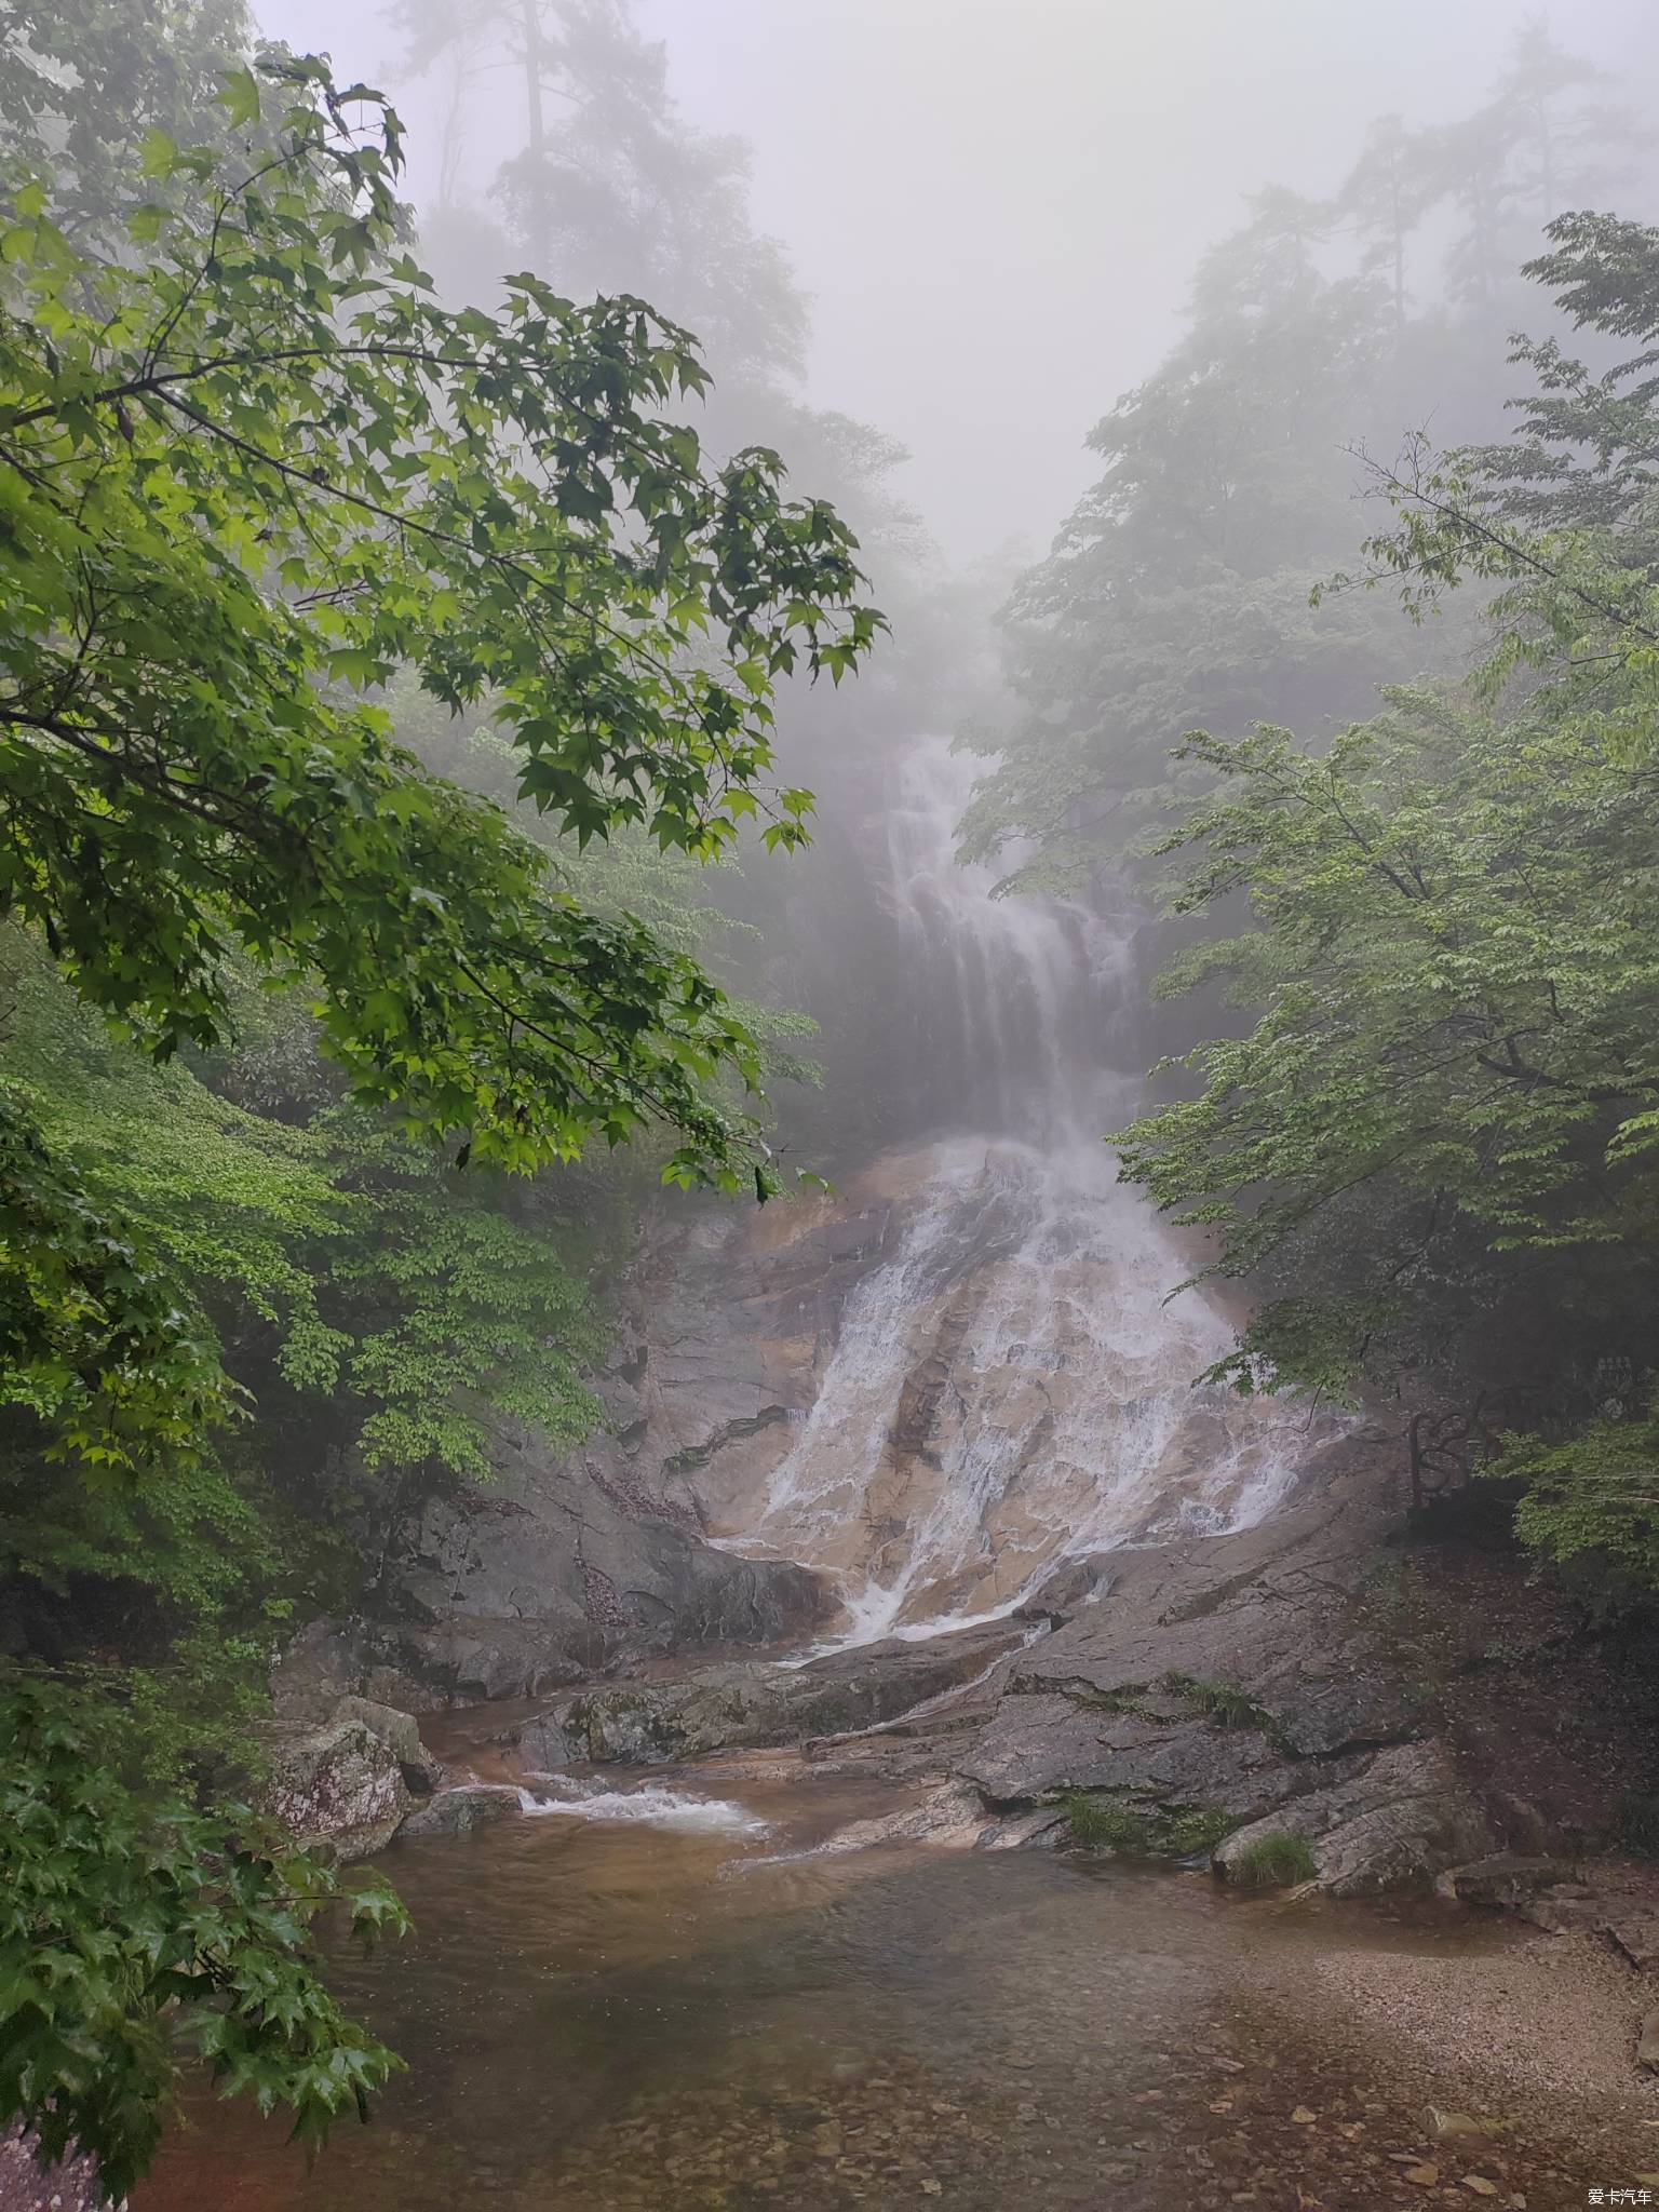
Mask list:
MULTIPOLYGON (((1009 602, 1018 703, 1006 730, 973 737, 998 759, 964 823, 971 856, 1031 841, 1018 889, 1121 874, 1161 807, 1206 787, 1192 757, 1170 774, 1183 730, 1323 737, 1369 712, 1378 684, 1460 664, 1462 635, 1411 637, 1383 604, 1316 588, 1352 553, 1363 449, 1394 451, 1425 420, 1498 431, 1515 265, 1641 144, 1641 119, 1533 22, 1471 115, 1387 115, 1327 199, 1252 199, 1199 265, 1179 345, 1093 431, 1102 478, 1009 602)), ((1548 343, 1535 358, 1546 396, 1498 449, 1506 476, 1526 471, 1528 434, 1562 427, 1553 409, 1595 398, 1588 372, 1555 374, 1548 343)), ((1637 358, 1626 383, 1646 374, 1637 358)), ((1632 482, 1641 453, 1632 440, 1632 482)))

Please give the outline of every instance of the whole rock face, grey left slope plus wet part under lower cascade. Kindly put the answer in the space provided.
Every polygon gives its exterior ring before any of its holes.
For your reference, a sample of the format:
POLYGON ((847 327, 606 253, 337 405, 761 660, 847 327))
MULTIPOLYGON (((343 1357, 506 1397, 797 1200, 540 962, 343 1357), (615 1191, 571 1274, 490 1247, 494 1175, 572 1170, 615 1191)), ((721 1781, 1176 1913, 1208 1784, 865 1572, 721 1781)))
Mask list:
POLYGON ((841 1595, 874 1635, 991 1613, 1044 1571, 1068 1597, 1093 1582, 1079 1537, 1265 1511, 1307 1438, 1190 1389, 1228 1327, 1201 1298, 1164 1310, 1183 1265, 1093 1141, 949 1139, 834 1197, 675 1208, 619 1292, 606 1431, 564 1460, 509 1440, 489 1489, 427 1500, 365 1668, 540 1697, 807 1641, 841 1595))

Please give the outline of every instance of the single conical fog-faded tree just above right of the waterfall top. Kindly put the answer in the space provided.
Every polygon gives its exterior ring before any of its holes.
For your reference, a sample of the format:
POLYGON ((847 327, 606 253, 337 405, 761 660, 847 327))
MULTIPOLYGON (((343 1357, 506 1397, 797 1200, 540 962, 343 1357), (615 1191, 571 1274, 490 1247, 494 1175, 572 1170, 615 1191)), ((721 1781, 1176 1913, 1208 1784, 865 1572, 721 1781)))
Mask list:
POLYGON ((1102 478, 1015 588, 1020 710, 964 823, 973 858, 1035 843, 1015 887, 1121 867, 1181 730, 1356 714, 1398 672, 1376 608, 1307 602, 1352 544, 1343 442, 1394 354, 1380 288, 1321 274, 1321 221, 1263 195, 1206 257, 1188 336, 1095 427, 1102 478))

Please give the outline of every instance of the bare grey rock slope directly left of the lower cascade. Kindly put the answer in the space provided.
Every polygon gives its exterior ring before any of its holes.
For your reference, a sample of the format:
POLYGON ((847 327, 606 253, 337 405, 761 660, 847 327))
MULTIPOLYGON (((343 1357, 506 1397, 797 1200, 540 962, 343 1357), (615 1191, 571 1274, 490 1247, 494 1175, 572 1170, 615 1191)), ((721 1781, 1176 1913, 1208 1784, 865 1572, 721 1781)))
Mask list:
POLYGON ((721 1495, 765 1484, 885 1221, 885 1206, 823 1201, 684 1208, 661 1225, 595 1378, 606 1433, 564 1460, 509 1438, 489 1489, 425 1502, 354 1639, 358 1674, 473 1703, 666 1652, 805 1641, 832 1610, 823 1579, 706 1542, 692 1478, 721 1495))

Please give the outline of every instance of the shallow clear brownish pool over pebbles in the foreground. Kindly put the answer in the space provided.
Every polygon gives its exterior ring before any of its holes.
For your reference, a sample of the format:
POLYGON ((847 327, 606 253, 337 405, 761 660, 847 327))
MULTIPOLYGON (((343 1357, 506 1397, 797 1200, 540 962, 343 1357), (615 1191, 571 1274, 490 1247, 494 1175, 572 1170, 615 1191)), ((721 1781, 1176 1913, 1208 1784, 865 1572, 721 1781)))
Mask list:
MULTIPOLYGON (((133 2212, 1425 2201, 1398 2159, 1416 2090, 1298 2042, 1301 1962, 1336 1938, 1500 1953, 1500 1931, 1029 1851, 814 1858, 874 1785, 737 1794, 772 1834, 544 1818, 389 1851, 416 1936, 336 1982, 409 2075, 310 2174, 281 2128, 197 2097, 133 2212)), ((1504 2137, 1478 2174, 1500 2205, 1584 2203, 1566 2166, 1551 2194, 1557 2157, 1504 2137)))

